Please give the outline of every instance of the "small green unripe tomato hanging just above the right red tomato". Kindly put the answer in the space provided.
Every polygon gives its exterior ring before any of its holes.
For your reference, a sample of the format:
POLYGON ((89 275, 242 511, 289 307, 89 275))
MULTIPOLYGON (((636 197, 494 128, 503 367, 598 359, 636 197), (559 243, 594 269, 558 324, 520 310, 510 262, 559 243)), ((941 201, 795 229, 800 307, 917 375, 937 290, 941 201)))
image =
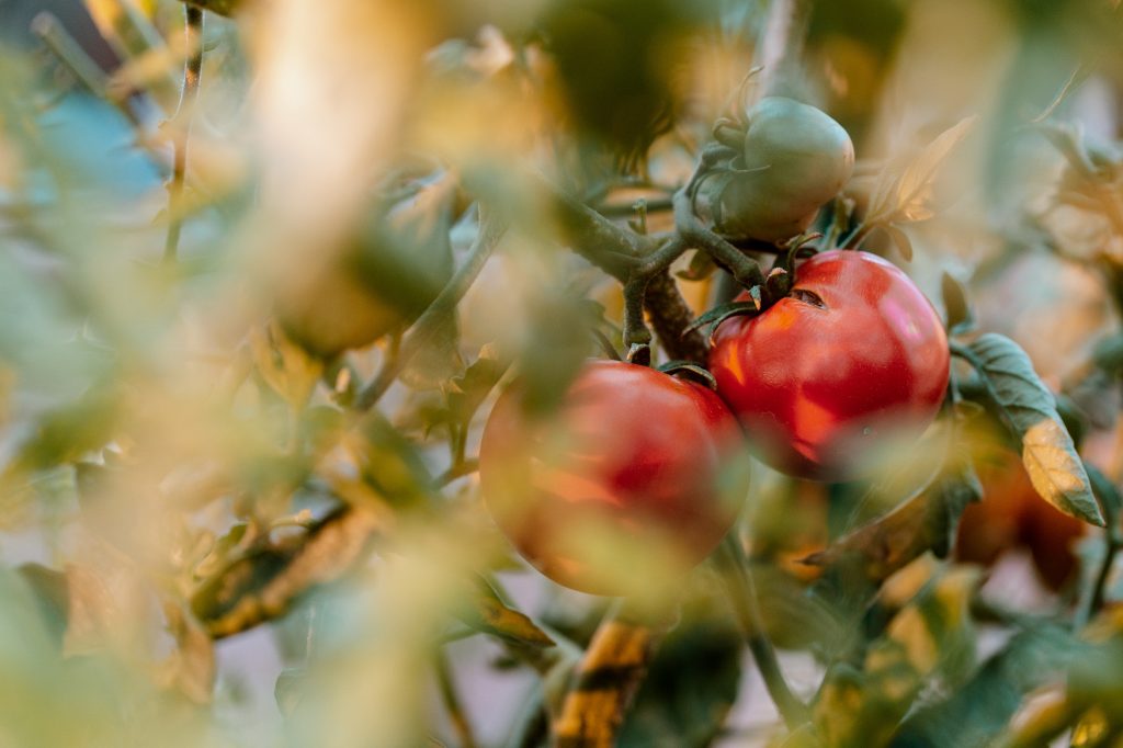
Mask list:
POLYGON ((853 144, 822 110, 767 97, 746 112, 743 166, 700 190, 702 209, 727 236, 783 241, 815 219, 853 172, 853 144))

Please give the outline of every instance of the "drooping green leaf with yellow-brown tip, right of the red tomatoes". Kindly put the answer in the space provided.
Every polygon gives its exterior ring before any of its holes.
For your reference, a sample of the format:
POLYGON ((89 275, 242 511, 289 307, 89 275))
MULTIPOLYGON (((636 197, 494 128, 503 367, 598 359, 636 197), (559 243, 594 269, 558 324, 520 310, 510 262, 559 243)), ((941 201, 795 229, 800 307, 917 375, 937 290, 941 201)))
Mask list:
POLYGON ((1104 518, 1072 437, 1025 352, 1010 338, 988 332, 970 344, 966 357, 1007 428, 1021 441, 1022 462, 1041 498, 1066 514, 1103 527, 1104 518))

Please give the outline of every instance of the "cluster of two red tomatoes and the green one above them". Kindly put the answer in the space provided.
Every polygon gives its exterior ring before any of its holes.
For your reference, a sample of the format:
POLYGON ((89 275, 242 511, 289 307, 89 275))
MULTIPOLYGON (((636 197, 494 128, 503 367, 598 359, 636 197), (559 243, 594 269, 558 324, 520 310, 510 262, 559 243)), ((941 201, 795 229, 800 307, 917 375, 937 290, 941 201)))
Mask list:
MULTIPOLYGON (((724 234, 779 240, 836 197, 852 145, 834 120, 791 100, 765 99, 746 119, 733 164, 743 176, 713 181, 710 219, 724 234)), ((647 580, 650 569, 690 569, 736 520, 745 445, 793 476, 850 480, 915 439, 948 386, 931 303, 901 270, 857 250, 804 261, 788 295, 727 319, 713 341, 713 389, 596 361, 548 418, 523 408, 518 383, 500 398, 481 447, 482 490, 533 566, 599 594, 628 592, 639 558, 647 580)))

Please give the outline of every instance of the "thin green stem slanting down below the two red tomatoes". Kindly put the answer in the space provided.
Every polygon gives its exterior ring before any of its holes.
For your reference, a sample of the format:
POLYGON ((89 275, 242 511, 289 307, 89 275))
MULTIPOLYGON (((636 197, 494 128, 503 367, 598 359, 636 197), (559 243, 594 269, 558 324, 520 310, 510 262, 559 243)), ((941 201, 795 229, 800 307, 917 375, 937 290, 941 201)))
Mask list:
POLYGON ((741 624, 746 644, 764 677, 768 695, 772 696, 788 729, 795 730, 807 722, 807 706, 792 693, 787 681, 784 679, 784 673, 779 669, 776 650, 765 633, 752 574, 740 544, 732 535, 722 541, 718 550, 718 560, 722 566, 721 577, 730 602, 741 624))

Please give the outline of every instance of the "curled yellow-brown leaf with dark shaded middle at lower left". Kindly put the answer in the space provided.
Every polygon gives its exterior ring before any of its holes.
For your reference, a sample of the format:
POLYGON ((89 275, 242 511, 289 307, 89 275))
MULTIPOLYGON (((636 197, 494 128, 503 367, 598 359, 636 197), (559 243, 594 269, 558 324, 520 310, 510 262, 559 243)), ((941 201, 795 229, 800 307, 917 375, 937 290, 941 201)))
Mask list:
POLYGON ((341 509, 308 532, 263 545, 201 582, 191 610, 219 639, 283 615, 314 585, 339 578, 366 555, 375 518, 341 509))

